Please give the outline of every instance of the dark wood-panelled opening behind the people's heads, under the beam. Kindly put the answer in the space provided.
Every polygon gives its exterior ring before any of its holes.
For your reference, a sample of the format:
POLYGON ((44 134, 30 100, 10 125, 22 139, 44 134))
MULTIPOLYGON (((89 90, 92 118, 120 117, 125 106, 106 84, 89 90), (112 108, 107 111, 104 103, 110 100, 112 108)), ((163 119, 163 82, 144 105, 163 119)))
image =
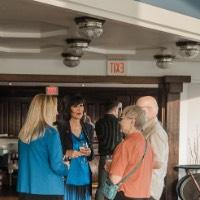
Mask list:
MULTIPOLYGON (((24 122, 31 99, 38 93, 44 93, 45 87, 0 87, 0 134, 17 137, 24 122)), ((158 88, 76 88, 59 87, 59 101, 63 96, 80 93, 87 103, 87 114, 96 122, 104 114, 104 103, 117 98, 123 106, 134 104, 143 95, 159 98, 158 88)), ((161 105, 161 103, 160 103, 161 105)), ((162 110, 162 109, 160 109, 162 110)))

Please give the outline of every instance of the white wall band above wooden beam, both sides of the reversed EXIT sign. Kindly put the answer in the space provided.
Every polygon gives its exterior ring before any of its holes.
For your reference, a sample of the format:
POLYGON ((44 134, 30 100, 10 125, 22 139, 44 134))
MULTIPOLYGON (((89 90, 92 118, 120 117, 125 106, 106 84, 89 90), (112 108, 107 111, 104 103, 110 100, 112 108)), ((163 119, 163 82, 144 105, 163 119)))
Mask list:
MULTIPOLYGON (((200 82, 200 63, 175 62, 169 69, 159 69, 153 61, 127 61, 128 76, 188 75, 192 82, 200 82)), ((79 66, 64 66, 62 59, 0 59, 0 73, 106 75, 106 60, 81 60, 79 66)))

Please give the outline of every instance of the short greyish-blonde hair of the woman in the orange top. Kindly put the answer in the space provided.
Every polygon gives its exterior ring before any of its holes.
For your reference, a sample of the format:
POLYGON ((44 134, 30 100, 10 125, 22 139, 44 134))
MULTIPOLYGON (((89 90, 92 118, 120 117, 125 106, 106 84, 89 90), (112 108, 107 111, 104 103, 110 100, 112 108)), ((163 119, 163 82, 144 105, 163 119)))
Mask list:
POLYGON ((127 106, 122 111, 122 116, 135 119, 135 127, 142 130, 146 123, 146 114, 139 106, 127 106))

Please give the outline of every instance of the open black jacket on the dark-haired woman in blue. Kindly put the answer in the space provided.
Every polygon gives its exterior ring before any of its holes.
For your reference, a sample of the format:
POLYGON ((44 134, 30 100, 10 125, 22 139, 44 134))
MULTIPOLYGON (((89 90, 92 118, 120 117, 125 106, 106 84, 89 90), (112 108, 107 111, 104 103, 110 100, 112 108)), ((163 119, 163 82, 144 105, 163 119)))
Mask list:
MULTIPOLYGON (((81 126, 83 134, 85 135, 85 138, 87 140, 88 146, 91 149, 91 155, 88 157, 88 160, 92 160, 94 157, 93 146, 92 146, 94 128, 92 127, 92 125, 83 122, 81 122, 81 126)), ((73 149, 72 135, 71 135, 71 128, 69 121, 57 122, 57 129, 60 133, 63 154, 65 154, 66 150, 73 149)))

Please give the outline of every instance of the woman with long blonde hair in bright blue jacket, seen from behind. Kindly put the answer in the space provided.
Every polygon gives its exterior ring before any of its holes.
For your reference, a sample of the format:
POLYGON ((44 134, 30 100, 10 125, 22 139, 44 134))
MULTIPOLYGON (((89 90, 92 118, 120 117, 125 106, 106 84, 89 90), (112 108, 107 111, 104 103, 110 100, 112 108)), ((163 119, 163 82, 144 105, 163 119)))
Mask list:
POLYGON ((68 167, 63 163, 60 136, 53 127, 57 98, 36 95, 19 133, 17 191, 20 200, 61 200, 68 167))

